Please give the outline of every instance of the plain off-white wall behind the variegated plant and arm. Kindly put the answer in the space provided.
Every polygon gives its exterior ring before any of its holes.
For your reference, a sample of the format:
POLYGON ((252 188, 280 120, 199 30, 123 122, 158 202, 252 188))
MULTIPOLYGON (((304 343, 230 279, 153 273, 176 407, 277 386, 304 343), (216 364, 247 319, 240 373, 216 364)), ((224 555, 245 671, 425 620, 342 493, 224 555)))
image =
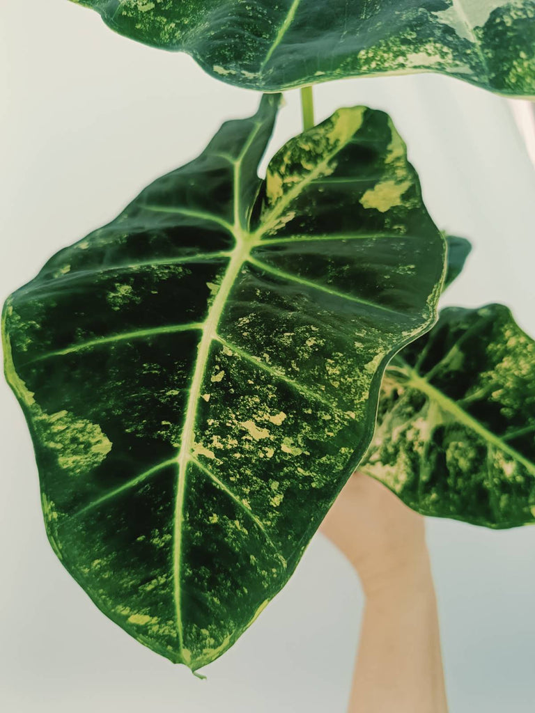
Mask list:
MULTIPOLYGON (((440 76, 342 81, 339 106, 391 113, 439 227, 474 254, 450 304, 504 302, 535 334, 535 172, 508 103, 440 76)), ((183 54, 123 39, 67 0, 0 3, 1 297, 193 158, 259 96, 183 54)), ((270 154, 300 130, 287 94, 270 154)), ((106 620, 51 552, 31 442, 0 384, 0 702, 16 713, 344 713, 362 607, 317 535, 287 588, 200 682, 106 620)), ((429 521, 452 713, 535 707, 535 528, 429 521)), ((394 713, 394 712, 393 712, 394 713)))

